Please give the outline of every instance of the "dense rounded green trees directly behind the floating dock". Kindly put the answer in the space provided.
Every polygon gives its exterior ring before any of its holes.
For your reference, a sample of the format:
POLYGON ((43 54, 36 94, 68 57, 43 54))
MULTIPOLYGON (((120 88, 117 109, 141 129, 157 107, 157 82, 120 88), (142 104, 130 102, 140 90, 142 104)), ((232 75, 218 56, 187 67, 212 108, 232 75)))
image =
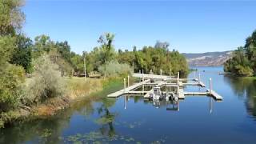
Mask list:
MULTIPOLYGON (((156 46, 158 46, 156 44, 156 46)), ((166 46, 152 47, 144 46, 142 50, 118 51, 118 62, 128 63, 133 66, 134 71, 144 70, 145 73, 154 74, 188 74, 186 58, 177 50, 169 51, 166 46)))

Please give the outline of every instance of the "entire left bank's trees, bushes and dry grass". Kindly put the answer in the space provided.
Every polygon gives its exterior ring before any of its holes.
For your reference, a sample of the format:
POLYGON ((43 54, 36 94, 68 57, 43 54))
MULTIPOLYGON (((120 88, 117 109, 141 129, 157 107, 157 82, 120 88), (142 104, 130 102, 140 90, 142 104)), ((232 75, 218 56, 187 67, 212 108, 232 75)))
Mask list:
POLYGON ((106 33, 98 38, 98 47, 76 54, 67 41, 56 42, 45 34, 33 40, 22 33, 23 4, 0 0, 0 127, 28 114, 54 114, 70 100, 133 72, 188 73, 184 56, 170 51, 167 42, 117 52, 114 34, 106 33), (105 81, 78 78, 95 75, 105 81))

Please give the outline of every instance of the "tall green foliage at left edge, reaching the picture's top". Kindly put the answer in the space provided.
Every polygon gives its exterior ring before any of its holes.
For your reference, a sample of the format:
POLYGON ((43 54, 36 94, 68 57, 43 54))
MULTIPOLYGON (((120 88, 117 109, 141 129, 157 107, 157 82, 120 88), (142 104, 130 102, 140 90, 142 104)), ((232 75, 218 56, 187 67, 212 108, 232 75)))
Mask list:
POLYGON ((14 36, 25 20, 21 6, 20 0, 0 0, 0 113, 18 104, 20 84, 24 81, 22 66, 10 64, 18 46, 14 36))

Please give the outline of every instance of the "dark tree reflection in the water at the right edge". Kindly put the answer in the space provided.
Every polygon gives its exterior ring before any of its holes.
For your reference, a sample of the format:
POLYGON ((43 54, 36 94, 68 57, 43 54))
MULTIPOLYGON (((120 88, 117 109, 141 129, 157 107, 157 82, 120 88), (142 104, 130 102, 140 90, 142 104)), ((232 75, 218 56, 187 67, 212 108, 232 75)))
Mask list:
POLYGON ((245 98, 246 110, 256 118, 256 80, 250 78, 225 77, 226 82, 232 86, 234 94, 245 98))

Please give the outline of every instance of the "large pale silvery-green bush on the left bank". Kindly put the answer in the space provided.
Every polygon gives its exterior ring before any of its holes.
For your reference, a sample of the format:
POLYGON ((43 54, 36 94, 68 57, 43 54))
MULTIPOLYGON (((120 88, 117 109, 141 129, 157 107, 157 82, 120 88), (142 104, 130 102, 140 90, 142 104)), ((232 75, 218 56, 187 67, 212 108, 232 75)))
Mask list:
POLYGON ((48 55, 42 55, 34 61, 34 74, 26 87, 23 102, 42 102, 46 98, 63 96, 66 93, 65 82, 58 71, 58 65, 50 61, 48 55))

